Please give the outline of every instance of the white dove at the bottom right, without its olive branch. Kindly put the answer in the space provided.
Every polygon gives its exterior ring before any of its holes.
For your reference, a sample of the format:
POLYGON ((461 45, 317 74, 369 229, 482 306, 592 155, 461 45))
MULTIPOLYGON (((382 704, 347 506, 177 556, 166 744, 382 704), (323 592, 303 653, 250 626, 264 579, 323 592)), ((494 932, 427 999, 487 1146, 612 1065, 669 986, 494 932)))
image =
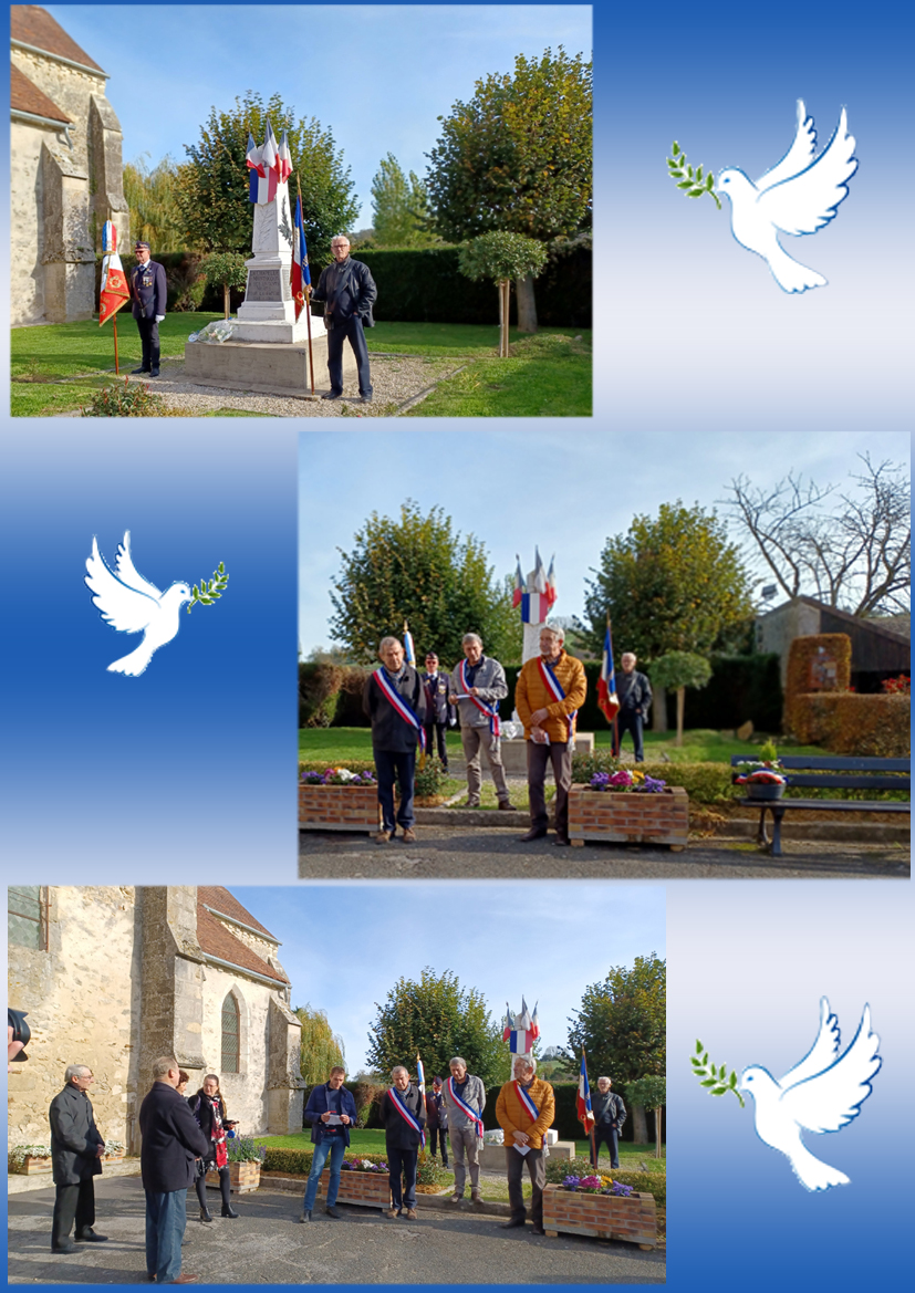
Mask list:
POLYGON ((880 1038, 871 1032, 870 1006, 844 1055, 839 1053, 839 1020, 826 997, 819 1002, 819 1033, 810 1054, 780 1082, 767 1069, 745 1068, 740 1087, 756 1102, 756 1134, 773 1149, 787 1155, 805 1190, 846 1186, 848 1177, 822 1162, 805 1147, 801 1131, 839 1131, 861 1112, 871 1094, 871 1078, 880 1068, 880 1038))

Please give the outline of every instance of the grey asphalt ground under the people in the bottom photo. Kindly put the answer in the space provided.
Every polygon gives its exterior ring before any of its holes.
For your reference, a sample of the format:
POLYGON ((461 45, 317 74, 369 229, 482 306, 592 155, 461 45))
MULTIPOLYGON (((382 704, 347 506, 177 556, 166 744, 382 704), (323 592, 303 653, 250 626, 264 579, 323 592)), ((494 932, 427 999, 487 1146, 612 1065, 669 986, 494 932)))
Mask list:
MULTIPOLYGON (((214 1199, 216 1197, 212 1192, 214 1199)), ((236 1201, 238 1221, 217 1214, 201 1224, 188 1208, 182 1268, 201 1284, 663 1284, 664 1253, 634 1244, 559 1236, 529 1227, 501 1230, 498 1217, 423 1209, 418 1221, 340 1205, 346 1221, 318 1209, 311 1226, 295 1222, 302 1201, 259 1190, 236 1201)), ((10 1284, 137 1284, 145 1280, 145 1200, 137 1177, 96 1181, 96 1230, 106 1244, 50 1252, 54 1191, 9 1200, 10 1284)))

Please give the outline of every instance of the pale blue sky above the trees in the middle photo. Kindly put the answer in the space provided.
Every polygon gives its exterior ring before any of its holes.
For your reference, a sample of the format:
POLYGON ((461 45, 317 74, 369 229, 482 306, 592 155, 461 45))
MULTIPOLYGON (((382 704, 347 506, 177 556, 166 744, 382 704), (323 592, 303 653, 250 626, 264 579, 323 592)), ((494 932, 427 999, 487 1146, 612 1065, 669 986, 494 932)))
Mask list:
MULTIPOLYGON (((516 552, 525 574, 535 544, 546 562, 555 552, 555 613, 580 615, 590 568, 607 537, 628 530, 634 515, 656 515, 661 503, 677 498, 712 508, 740 473, 761 486, 789 469, 819 484, 848 485, 848 473, 862 467, 858 454, 867 451, 874 462, 909 462, 910 453, 907 434, 880 431, 779 433, 762 440, 713 429, 701 436, 678 431, 626 436, 591 424, 581 429, 576 424, 569 434, 555 422, 538 422, 531 429, 513 423, 494 436, 470 425, 452 423, 450 436, 435 438, 400 431, 302 434, 299 637, 305 653, 330 641, 329 590, 340 569, 336 548, 351 550, 370 512, 397 516, 406 498, 424 512, 441 506, 458 530, 483 539, 500 577, 514 574, 516 552), (356 446, 358 469, 349 465, 356 446)), ((733 533, 736 538, 736 529, 733 533)))

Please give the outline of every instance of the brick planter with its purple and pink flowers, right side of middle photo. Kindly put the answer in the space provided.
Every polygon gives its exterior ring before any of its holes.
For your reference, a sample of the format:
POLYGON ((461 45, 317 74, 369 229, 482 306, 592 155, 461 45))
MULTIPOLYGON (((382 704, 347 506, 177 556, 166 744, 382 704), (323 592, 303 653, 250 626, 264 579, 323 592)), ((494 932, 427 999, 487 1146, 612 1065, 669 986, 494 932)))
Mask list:
POLYGON ((616 760, 610 771, 573 785, 568 796, 568 835, 572 844, 586 839, 625 844, 686 847, 690 806, 682 786, 668 786, 638 768, 616 760))

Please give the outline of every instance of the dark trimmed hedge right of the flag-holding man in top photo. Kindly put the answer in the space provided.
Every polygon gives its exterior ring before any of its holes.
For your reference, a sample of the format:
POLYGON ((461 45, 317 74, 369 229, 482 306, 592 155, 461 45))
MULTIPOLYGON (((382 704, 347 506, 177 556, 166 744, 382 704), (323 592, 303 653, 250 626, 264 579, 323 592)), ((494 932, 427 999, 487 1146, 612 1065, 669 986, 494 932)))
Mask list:
MULTIPOLYGON (((357 248, 378 284, 375 317, 386 323, 498 323, 496 284, 474 283, 458 269, 458 247, 357 248)), ((550 256, 535 281, 537 321, 545 327, 591 326, 591 251, 550 256)), ((510 322, 516 322, 513 291, 510 322)), ((493 337, 493 347, 496 339, 493 337)))

